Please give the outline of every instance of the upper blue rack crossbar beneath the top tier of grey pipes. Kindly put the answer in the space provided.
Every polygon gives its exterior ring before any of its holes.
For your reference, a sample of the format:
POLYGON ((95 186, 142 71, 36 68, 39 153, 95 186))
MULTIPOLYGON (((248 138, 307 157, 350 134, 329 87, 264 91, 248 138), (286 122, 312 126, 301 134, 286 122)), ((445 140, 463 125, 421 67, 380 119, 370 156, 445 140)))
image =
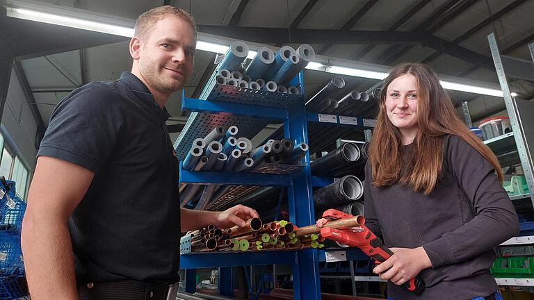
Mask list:
MULTIPOLYGON (((280 108, 265 107, 258 109, 256 106, 240 103, 227 103, 206 101, 184 97, 181 100, 181 110, 209 113, 227 113, 231 115, 253 115, 268 119, 285 119, 287 110, 280 108)), ((241 132, 240 132, 241 133, 241 132)))

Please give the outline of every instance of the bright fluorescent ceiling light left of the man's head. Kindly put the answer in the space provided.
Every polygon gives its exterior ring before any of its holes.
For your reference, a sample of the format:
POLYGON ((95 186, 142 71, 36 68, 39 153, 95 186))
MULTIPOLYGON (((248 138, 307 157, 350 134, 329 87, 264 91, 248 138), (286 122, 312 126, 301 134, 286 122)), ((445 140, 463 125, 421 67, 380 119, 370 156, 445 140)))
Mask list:
POLYGON ((54 24, 60 26, 67 26, 72 28, 85 29, 88 31, 97 31, 101 33, 109 33, 113 35, 120 35, 124 37, 133 37, 133 28, 122 26, 115 26, 111 24, 104 24, 98 22, 86 21, 83 19, 76 19, 72 17, 63 17, 60 15, 53 15, 46 12, 37 12, 34 10, 26 10, 22 8, 7 8, 10 17, 17 17, 19 19, 29 19, 31 21, 43 22, 47 24, 54 24))

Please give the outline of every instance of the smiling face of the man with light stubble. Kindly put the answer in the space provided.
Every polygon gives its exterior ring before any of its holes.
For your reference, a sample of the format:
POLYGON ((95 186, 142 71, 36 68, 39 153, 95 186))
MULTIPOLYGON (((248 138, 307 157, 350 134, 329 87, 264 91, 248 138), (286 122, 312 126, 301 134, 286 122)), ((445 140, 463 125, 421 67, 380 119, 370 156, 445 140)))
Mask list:
POLYGON ((197 39, 191 25, 167 16, 141 40, 139 72, 149 88, 163 94, 180 90, 191 77, 197 39))

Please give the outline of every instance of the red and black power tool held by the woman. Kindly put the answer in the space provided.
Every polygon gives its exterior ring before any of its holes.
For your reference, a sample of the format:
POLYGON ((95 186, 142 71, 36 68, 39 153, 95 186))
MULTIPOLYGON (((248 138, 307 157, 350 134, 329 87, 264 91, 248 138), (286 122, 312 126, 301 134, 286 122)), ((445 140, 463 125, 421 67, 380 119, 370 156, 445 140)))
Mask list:
MULTIPOLYGON (((354 217, 347 213, 343 213, 339 210, 326 210, 323 213, 323 218, 330 221, 337 219, 346 219, 349 217, 354 217)), ((369 257, 371 257, 375 263, 380 264, 384 263, 390 256, 393 255, 393 252, 382 244, 382 240, 378 238, 373 232, 369 230, 362 222, 361 225, 356 227, 348 228, 330 228, 323 227, 321 228, 321 236, 327 238, 328 240, 333 240, 335 242, 340 242, 348 246, 358 247, 369 257)), ((403 288, 406 288, 414 294, 421 294, 425 290, 425 282, 419 276, 415 276, 401 285, 403 288)))

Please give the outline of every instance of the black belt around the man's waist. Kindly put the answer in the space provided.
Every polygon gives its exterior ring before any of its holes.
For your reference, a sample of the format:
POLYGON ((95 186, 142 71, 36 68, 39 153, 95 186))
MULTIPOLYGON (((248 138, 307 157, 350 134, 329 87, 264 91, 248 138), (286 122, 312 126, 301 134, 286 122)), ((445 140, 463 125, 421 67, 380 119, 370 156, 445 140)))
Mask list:
POLYGON ((80 300, 165 300, 172 285, 122 280, 79 283, 80 300))

